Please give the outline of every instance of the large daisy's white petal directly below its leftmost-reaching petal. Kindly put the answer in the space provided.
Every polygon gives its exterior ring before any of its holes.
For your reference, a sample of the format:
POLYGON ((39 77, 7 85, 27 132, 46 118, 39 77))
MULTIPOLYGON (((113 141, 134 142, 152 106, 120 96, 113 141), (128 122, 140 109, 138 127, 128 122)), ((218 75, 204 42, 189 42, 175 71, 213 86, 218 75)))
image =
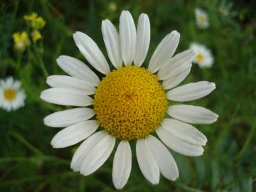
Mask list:
POLYGON ((43 122, 49 127, 68 127, 86 121, 93 115, 95 112, 90 108, 75 108, 50 114, 43 119, 43 122))

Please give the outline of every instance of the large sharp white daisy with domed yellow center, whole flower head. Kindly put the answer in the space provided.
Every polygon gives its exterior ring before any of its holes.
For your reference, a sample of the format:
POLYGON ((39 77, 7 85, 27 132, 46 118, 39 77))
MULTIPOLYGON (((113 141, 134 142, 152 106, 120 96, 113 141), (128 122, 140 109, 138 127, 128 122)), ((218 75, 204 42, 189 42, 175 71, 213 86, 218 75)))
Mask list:
POLYGON ((186 156, 202 155, 207 139, 188 123, 210 124, 218 115, 193 105, 168 106, 168 100, 197 100, 212 92, 215 84, 200 81, 176 87, 190 72, 196 56, 194 50, 174 55, 180 38, 177 31, 159 43, 149 68, 142 67, 150 41, 146 14, 139 16, 136 28, 129 11, 122 11, 119 33, 106 19, 102 21, 102 34, 115 70, 110 70, 105 56, 89 36, 76 32, 73 35, 76 46, 105 78, 100 80, 82 61, 62 55, 57 63, 70 76, 53 75, 47 79, 52 88, 44 90, 41 99, 78 107, 55 112, 44 119, 49 127, 65 127, 51 144, 63 148, 86 139, 75 151, 71 169, 87 176, 105 163, 116 140, 120 141, 112 169, 114 186, 120 189, 132 169, 129 142, 135 141, 137 160, 145 178, 157 184, 161 173, 174 181, 178 178, 178 168, 166 146, 186 156), (96 132, 99 127, 101 130, 96 132), (153 132, 159 139, 151 135, 153 132))

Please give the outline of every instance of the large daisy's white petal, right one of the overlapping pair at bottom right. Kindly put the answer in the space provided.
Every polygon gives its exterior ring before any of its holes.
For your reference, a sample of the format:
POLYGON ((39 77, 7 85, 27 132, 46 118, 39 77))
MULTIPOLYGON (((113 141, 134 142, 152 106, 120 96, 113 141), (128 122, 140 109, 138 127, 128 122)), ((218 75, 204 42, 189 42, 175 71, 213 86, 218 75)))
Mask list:
POLYGON ((169 150, 159 141, 159 139, 156 139, 156 137, 151 135, 146 138, 146 142, 151 146, 151 150, 159 165, 161 174, 171 181, 175 181, 176 178, 178 178, 178 167, 169 150))

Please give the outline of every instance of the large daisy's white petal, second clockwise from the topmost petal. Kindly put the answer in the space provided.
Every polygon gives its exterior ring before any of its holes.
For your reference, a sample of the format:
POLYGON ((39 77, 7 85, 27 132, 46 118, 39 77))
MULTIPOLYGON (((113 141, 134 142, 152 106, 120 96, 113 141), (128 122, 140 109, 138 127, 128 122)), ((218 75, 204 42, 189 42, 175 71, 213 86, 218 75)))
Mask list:
POLYGON ((149 61, 149 70, 151 73, 158 71, 164 63, 171 59, 178 46, 180 34, 172 31, 159 43, 149 61))

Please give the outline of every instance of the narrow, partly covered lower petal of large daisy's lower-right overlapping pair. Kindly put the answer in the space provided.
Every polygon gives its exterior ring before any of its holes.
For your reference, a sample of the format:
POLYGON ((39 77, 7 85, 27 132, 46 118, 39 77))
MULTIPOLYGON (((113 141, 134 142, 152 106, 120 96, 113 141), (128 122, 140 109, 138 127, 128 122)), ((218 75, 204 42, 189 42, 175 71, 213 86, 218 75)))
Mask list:
POLYGON ((186 155, 186 156, 201 156, 203 154, 203 147, 184 142, 178 139, 173 134, 170 134, 162 127, 156 129, 156 134, 159 136, 162 142, 169 146, 174 151, 186 155))

